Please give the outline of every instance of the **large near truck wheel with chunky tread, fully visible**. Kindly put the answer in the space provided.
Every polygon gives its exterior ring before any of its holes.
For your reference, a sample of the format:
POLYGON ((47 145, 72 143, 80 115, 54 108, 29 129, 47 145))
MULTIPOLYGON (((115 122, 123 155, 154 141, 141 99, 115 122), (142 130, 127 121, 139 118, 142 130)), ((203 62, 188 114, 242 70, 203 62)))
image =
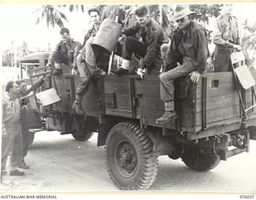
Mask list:
POLYGON ((146 190, 157 176, 158 155, 137 124, 120 122, 106 138, 106 165, 120 190, 146 190))

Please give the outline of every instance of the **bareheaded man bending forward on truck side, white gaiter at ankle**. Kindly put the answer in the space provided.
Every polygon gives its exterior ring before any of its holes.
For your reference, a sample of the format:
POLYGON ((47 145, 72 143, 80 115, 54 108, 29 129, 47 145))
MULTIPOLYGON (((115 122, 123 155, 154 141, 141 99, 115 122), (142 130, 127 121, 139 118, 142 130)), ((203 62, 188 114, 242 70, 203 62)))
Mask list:
POLYGON ((164 40, 162 27, 150 18, 150 10, 147 6, 139 6, 135 12, 137 21, 130 28, 124 28, 122 33, 126 35, 122 46, 122 66, 117 70, 111 70, 113 74, 128 74, 130 69, 130 59, 132 54, 138 54, 143 57, 141 66, 137 74, 143 77, 144 69, 148 74, 158 74, 162 66, 162 57, 160 47, 164 40), (142 42, 134 37, 139 33, 142 42))

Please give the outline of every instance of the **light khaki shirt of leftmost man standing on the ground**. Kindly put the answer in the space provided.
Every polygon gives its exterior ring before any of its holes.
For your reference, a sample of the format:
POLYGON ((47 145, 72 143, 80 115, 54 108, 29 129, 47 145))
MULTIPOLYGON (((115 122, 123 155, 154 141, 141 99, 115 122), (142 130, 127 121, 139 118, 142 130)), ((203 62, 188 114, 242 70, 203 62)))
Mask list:
POLYGON ((20 104, 18 98, 10 98, 6 95, 2 100, 2 128, 17 126, 20 120, 20 104))

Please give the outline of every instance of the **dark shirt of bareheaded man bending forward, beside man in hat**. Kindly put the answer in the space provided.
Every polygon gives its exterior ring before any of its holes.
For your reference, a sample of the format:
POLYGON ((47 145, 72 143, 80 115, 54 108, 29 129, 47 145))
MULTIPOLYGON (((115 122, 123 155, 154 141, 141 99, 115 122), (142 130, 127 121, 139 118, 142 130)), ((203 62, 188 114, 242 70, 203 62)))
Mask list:
POLYGON ((164 34, 162 27, 154 20, 150 19, 149 24, 146 27, 138 25, 138 22, 135 22, 130 28, 124 28, 123 34, 127 36, 134 36, 139 34, 142 37, 142 42, 145 42, 147 45, 146 56, 143 59, 141 68, 147 68, 155 63, 155 65, 162 64, 162 56, 160 47, 164 41, 164 34))

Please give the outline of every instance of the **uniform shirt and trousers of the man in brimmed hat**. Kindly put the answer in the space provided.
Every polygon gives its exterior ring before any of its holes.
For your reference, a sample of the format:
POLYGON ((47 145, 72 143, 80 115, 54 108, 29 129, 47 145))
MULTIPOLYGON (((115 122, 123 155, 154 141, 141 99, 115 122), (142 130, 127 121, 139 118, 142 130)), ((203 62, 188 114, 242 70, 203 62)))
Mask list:
POLYGON ((163 102, 174 100, 174 79, 194 70, 200 74, 206 71, 208 55, 206 30, 197 22, 190 22, 184 30, 174 31, 166 55, 166 65, 170 70, 160 74, 160 96, 163 102))

